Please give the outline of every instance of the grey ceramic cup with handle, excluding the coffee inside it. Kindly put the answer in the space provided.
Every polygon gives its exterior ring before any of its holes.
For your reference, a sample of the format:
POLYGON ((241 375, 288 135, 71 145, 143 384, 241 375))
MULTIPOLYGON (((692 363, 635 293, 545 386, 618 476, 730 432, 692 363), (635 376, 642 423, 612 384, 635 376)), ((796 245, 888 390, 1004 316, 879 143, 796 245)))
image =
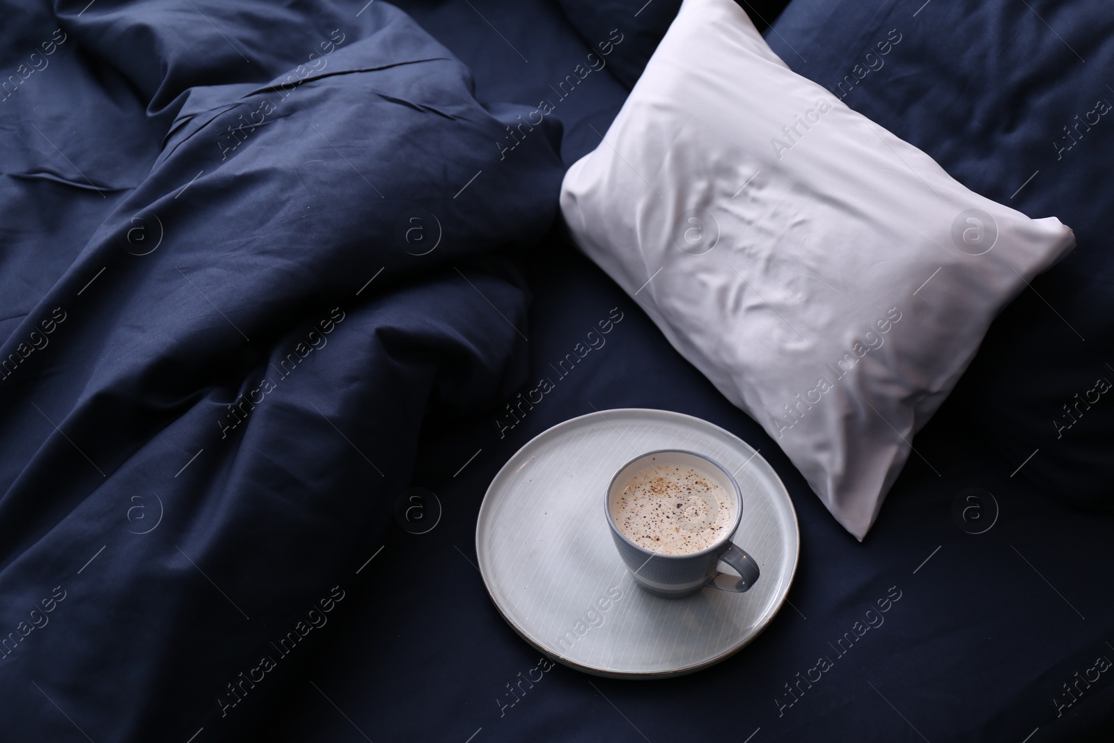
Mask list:
POLYGON ((758 563, 731 541, 743 519, 743 498, 735 478, 719 462, 692 451, 649 451, 620 467, 604 496, 604 511, 612 539, 635 581, 646 590, 662 596, 684 596, 707 586, 741 594, 750 590, 759 579, 758 563), (631 480, 651 467, 666 465, 690 467, 698 471, 720 485, 734 499, 735 517, 726 532, 711 547, 684 555, 663 555, 632 541, 615 522, 612 507, 631 480), (717 571, 720 560, 734 568, 739 575, 717 571))

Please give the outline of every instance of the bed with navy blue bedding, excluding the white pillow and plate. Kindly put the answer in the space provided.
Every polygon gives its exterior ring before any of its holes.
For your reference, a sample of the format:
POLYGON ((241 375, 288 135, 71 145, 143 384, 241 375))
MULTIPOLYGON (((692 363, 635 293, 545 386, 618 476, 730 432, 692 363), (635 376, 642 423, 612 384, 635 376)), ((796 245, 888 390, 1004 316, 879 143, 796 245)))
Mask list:
POLYGON ((1114 734, 1114 403, 1074 407, 1114 379, 1114 17, 741 3, 794 71, 1077 239, 991 325, 859 542, 558 217, 676 4, 560 90, 624 3, 10 4, 0 737, 1114 734), (509 135, 541 97, 553 116, 509 135), (499 468, 609 408, 730 430, 797 510, 785 606, 690 676, 553 663, 476 565, 499 468))

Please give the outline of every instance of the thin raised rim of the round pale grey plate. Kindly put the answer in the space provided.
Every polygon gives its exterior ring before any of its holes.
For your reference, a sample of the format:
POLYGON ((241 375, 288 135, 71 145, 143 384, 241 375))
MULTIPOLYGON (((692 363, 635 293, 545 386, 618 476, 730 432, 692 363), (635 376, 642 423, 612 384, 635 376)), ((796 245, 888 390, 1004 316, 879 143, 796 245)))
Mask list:
POLYGON ((499 471, 496 472, 495 477, 491 478, 491 482, 488 483, 487 490, 483 492, 483 500, 480 501, 480 508, 479 508, 479 511, 477 512, 477 516, 476 516, 476 539, 475 539, 475 547, 476 547, 476 559, 479 563, 480 578, 483 580, 483 589, 487 592, 488 598, 491 599, 491 604, 495 605, 496 610, 499 612, 499 616, 502 617, 504 622, 506 622, 507 625, 510 626, 510 628, 514 629, 515 633, 519 637, 521 637, 524 641, 526 641, 527 644, 529 644, 531 647, 536 648, 537 651, 539 651, 544 655, 546 655, 549 658, 551 658, 551 659, 560 663, 564 666, 567 666, 567 667, 573 668, 575 671, 580 671, 583 673, 590 674, 593 676, 600 676, 600 677, 604 677, 604 678, 623 678, 623 680, 628 680, 628 681, 652 681, 652 680, 655 680, 655 678, 674 678, 676 676, 684 676, 684 675, 687 675, 687 674, 691 674, 691 673, 695 673, 697 671, 702 671, 704 668, 711 667, 711 666, 713 666, 713 665, 715 665, 717 663, 722 663, 723 661, 726 661, 727 658, 730 658, 732 655, 734 655, 739 651, 741 651, 744 647, 746 647, 747 645, 750 645, 752 642, 754 642, 754 639, 759 635, 761 635, 763 632, 765 632, 765 628, 770 626, 770 623, 773 622, 774 617, 776 617, 779 614, 781 614, 782 608, 784 608, 785 603, 789 600, 789 592, 791 592, 793 589, 793 581, 797 579, 797 568, 799 567, 800 561, 801 561, 801 525, 800 525, 800 521, 799 521, 799 519, 797 517, 797 507, 793 505, 793 498, 792 498, 792 496, 789 495, 789 488, 785 487, 785 483, 781 479, 781 476, 778 475, 776 470, 774 470, 773 465, 771 465, 765 459, 765 457, 762 457, 762 454, 759 453, 759 449, 756 449, 755 447, 751 446, 749 442, 744 441, 741 437, 732 433, 731 431, 729 431, 727 429, 723 428, 722 426, 716 426, 712 421, 704 420, 703 418, 697 418, 696 416, 690 416, 688 413, 677 412, 675 410, 665 410, 663 408, 608 408, 606 410, 598 410, 598 409, 597 410, 593 410, 590 413, 583 413, 580 416, 576 416, 574 418, 568 418, 568 419, 566 419, 566 420, 564 420, 564 421, 561 421, 559 423, 555 423, 554 426, 550 426, 549 428, 545 429, 544 431, 540 431, 536 436, 531 437, 526 443, 524 443, 521 447, 519 447, 515 451, 515 453, 512 453, 507 459, 506 462, 504 462, 502 467, 499 468, 499 471), (732 439, 735 439, 736 441, 741 441, 742 443, 744 443, 747 447, 750 447, 751 449, 753 449, 754 453, 753 453, 752 458, 753 457, 758 457, 759 459, 761 459, 762 461, 764 461, 766 463, 766 467, 770 468, 770 471, 773 475, 774 479, 776 480, 778 485, 781 486, 781 489, 782 489, 782 491, 785 495, 785 500, 789 504, 789 512, 793 517, 793 532, 797 536, 795 545, 794 545, 794 550, 793 550, 793 564, 792 564, 792 568, 790 570, 789 581, 785 584, 785 590, 781 594, 781 597, 778 600, 776 606, 770 613, 770 616, 766 617, 766 619, 761 625, 759 625, 755 628, 754 633, 750 637, 747 637, 745 641, 743 641, 742 643, 740 643, 737 646, 735 646, 735 647, 733 647, 733 648, 731 648, 729 651, 725 651, 724 653, 721 653, 720 655, 716 655, 715 657, 707 658, 707 659, 702 661, 700 663, 691 664, 691 665, 683 666, 681 668, 671 669, 671 671, 651 671, 651 672, 615 672, 615 671, 605 671, 605 669, 602 669, 602 668, 596 668, 596 667, 593 667, 593 666, 584 665, 583 663, 578 663, 576 661, 573 661, 571 658, 565 657, 565 656, 560 655, 559 653, 554 653, 549 648, 543 647, 541 645, 539 645, 538 643, 536 643, 534 639, 531 639, 522 630, 522 628, 519 627, 518 624, 514 619, 511 619, 507 615, 506 612, 504 612, 502 606, 500 606, 499 602, 496 600, 495 594, 491 590, 492 587, 491 587, 491 585, 490 585, 490 583, 488 580, 488 575, 483 571, 483 564, 485 564, 483 559, 482 559, 482 557, 480 557, 480 525, 482 522, 483 509, 487 507, 487 505, 488 505, 488 498, 491 495, 491 488, 495 487, 496 481, 504 473, 504 471, 507 469, 507 467, 515 460, 515 458, 517 458, 520 453, 522 453, 522 451, 526 450, 527 447, 532 446, 534 442, 537 439, 541 438, 543 436, 547 436, 547 434, 550 434, 553 432, 556 432, 556 431, 558 431, 558 430, 560 430, 563 428, 569 427, 569 426, 576 423, 577 421, 584 420, 585 418, 602 418, 603 420, 606 421, 607 419, 604 416, 605 412, 633 413, 633 414, 636 414, 636 416, 637 414, 645 414, 645 413, 649 413, 649 414, 662 414, 662 413, 664 413, 666 416, 673 416, 673 417, 677 417, 677 418, 681 418, 681 419, 687 419, 688 421, 696 421, 696 423, 700 424, 700 426, 711 427, 711 428, 713 428, 713 429, 715 429, 717 431, 721 431, 721 432, 725 433, 727 437, 730 437, 732 439))

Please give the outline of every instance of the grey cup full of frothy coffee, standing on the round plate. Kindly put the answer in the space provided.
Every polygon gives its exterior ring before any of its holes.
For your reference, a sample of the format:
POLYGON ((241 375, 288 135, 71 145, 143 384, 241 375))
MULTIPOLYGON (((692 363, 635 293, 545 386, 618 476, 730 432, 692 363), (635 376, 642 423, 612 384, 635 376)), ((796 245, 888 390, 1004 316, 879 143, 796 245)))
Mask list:
POLYGON ((759 579, 753 557, 731 541, 743 518, 739 483, 692 451, 651 451, 619 468, 604 510, 635 581, 663 596, 704 586, 743 593, 759 579), (739 575, 716 570, 723 560, 739 575))

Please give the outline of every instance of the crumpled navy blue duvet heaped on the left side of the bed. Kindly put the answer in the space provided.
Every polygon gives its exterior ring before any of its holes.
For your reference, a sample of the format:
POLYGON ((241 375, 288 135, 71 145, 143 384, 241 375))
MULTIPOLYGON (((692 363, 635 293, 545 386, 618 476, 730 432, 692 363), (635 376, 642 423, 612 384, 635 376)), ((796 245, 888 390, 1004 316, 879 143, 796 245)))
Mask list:
POLYGON ((3 11, 0 740, 242 740, 522 381, 559 125, 385 3, 84 4, 3 11))

